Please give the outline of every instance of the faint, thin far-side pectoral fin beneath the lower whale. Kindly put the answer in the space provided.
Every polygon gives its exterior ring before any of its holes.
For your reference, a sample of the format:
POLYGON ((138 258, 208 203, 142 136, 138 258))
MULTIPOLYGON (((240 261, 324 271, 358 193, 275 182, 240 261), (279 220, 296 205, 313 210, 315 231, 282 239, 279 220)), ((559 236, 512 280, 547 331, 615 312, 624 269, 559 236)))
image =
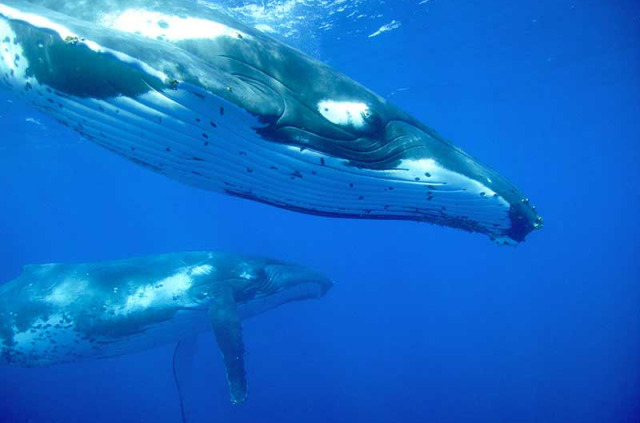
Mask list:
POLYGON ((191 393, 193 376, 193 356, 196 350, 197 336, 181 339, 173 351, 173 381, 178 390, 182 422, 191 418, 191 393))

